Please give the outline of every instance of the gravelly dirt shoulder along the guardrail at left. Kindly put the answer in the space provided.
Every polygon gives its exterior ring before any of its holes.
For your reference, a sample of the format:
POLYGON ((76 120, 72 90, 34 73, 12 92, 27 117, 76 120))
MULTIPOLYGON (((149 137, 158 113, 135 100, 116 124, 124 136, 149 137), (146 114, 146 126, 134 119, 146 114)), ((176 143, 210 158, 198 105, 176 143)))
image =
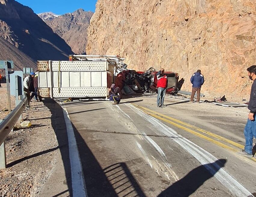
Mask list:
MULTIPOLYGON (((6 87, 6 84, 2 84, 6 87)), ((12 97, 12 108, 15 100, 12 97)), ((0 88, 0 118, 8 111, 6 88, 0 88), (4 110, 3 110, 4 109, 4 110)), ((58 142, 51 125, 51 111, 42 102, 32 102, 23 112, 29 128, 16 128, 6 139, 7 169, 0 169, 0 196, 38 196, 54 170, 58 142)))

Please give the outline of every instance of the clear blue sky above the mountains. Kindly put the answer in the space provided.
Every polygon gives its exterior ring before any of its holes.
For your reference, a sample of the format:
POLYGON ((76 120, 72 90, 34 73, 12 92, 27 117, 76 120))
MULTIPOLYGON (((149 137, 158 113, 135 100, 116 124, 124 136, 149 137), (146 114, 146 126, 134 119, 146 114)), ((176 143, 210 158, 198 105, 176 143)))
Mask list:
POLYGON ((85 11, 95 11, 97 0, 16 0, 17 2, 29 6, 36 13, 53 12, 55 14, 65 14, 73 12, 79 8, 85 11))

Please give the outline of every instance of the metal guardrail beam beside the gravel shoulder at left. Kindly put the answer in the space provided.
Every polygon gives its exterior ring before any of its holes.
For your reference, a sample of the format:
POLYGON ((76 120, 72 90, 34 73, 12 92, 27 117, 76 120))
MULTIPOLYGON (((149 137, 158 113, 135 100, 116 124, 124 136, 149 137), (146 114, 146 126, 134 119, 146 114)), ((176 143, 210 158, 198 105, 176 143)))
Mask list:
POLYGON ((11 132, 15 123, 18 121, 25 107, 28 105, 27 97, 20 101, 20 103, 9 113, 0 123, 0 145, 5 141, 8 134, 11 132))

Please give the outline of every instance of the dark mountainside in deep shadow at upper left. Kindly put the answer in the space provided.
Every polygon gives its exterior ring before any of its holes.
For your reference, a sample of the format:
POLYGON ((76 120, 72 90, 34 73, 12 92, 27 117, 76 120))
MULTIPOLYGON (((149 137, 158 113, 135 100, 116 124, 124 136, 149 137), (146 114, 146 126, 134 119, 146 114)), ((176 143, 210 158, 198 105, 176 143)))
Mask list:
POLYGON ((68 60, 73 53, 31 8, 14 0, 0 1, 0 37, 34 60, 68 60))

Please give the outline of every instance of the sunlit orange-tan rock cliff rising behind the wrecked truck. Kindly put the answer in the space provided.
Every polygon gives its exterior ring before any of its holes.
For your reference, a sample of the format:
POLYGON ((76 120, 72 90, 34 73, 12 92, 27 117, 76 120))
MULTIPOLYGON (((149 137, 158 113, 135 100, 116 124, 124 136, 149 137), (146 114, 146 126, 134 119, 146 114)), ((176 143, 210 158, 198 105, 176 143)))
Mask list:
POLYGON ((98 0, 86 51, 120 54, 137 70, 178 72, 187 91, 201 69, 202 92, 245 97, 255 29, 254 0, 98 0))

